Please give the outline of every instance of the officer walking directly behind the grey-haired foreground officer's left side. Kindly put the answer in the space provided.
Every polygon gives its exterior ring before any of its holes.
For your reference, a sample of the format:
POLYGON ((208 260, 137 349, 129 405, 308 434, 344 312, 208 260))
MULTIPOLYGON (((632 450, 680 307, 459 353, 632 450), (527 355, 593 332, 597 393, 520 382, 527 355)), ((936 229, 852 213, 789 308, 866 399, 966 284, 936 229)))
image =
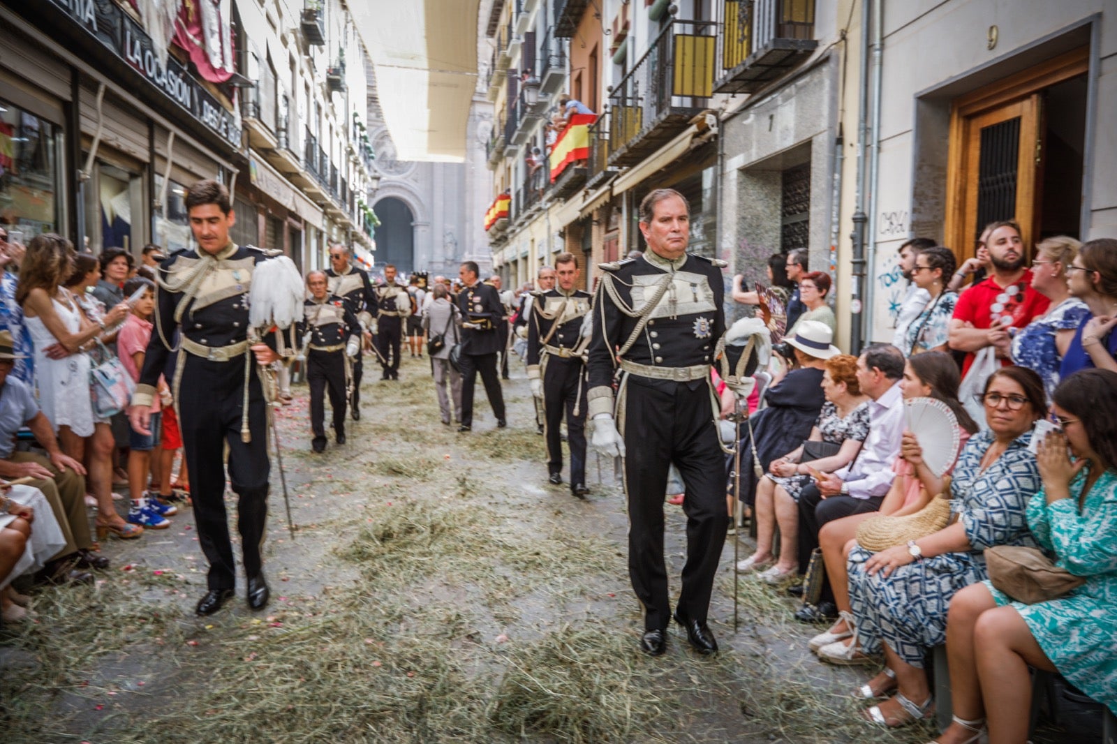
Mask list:
POLYGON ((548 480, 562 483, 560 427, 566 414, 570 442, 570 490, 585 498, 585 346, 582 325, 590 312, 590 293, 576 288, 581 269, 573 254, 560 254, 554 274, 558 286, 534 293, 527 319, 527 379, 543 401, 548 480))

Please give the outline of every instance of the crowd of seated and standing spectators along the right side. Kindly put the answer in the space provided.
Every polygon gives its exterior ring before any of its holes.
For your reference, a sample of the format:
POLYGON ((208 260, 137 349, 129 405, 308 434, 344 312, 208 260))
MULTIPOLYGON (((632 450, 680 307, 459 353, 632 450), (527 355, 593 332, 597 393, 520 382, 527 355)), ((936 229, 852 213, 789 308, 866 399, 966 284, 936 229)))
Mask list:
MULTIPOLYGON (((856 360, 819 323, 829 282, 787 257, 787 353, 762 370, 777 381, 739 428, 728 479, 756 531, 737 572, 796 595, 810 586, 795 617, 829 623, 810 649, 878 669, 856 690, 873 702, 866 719, 927 717, 930 652, 945 645, 954 717, 942 744, 1024 741, 1029 667, 1117 713, 1117 240, 1053 236, 1029 251, 1021 236, 1012 221, 987 226, 957 270, 951 249, 905 242, 892 343, 856 360), (905 413, 926 398, 956 422, 945 473, 924 459, 942 441, 905 413), (890 546, 870 540, 915 528, 890 546), (1038 547, 1085 583, 1011 595, 990 578, 985 551, 997 546, 1038 547)), ((733 297, 762 299, 739 276, 733 297)))

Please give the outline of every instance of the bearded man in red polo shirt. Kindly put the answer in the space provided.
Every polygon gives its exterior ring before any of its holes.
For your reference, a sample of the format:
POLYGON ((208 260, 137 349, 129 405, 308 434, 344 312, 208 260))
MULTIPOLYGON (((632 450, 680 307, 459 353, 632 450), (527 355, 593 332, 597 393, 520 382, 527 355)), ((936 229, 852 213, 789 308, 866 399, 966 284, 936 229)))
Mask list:
POLYGON ((962 293, 951 321, 951 349, 967 352, 963 376, 974 353, 985 346, 996 346, 996 355, 1008 364, 1013 334, 1046 313, 1051 302, 1032 289, 1019 225, 1012 220, 991 225, 986 247, 992 273, 962 293))

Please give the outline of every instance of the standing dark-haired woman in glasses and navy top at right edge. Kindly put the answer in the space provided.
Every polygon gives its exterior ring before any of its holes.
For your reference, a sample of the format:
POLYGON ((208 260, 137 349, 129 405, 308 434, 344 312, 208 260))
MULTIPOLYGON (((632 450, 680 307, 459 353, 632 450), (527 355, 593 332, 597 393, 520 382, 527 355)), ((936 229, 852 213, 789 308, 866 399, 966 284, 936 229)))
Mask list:
POLYGON ((1117 372, 1117 240, 1098 238, 1082 244, 1067 268, 1067 288, 1090 314, 1070 341, 1059 374, 1067 376, 1096 366, 1117 372))

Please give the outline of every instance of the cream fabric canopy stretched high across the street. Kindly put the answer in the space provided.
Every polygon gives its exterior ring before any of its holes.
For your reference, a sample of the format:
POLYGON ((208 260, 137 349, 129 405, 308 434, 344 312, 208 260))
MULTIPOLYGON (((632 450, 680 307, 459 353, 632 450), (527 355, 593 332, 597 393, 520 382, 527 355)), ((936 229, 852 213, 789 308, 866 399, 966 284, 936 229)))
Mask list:
POLYGON ((402 161, 464 162, 477 86, 479 0, 350 3, 402 161))

